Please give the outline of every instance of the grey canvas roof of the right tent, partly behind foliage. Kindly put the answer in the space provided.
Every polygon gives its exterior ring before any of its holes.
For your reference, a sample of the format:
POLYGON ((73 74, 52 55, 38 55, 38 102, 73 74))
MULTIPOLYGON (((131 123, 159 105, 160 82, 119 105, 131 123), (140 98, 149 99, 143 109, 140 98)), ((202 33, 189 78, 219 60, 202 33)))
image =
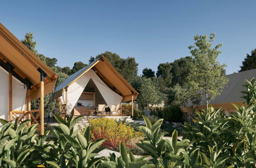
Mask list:
MULTIPOLYGON (((243 96, 241 91, 245 91, 245 87, 243 87, 245 85, 244 81, 245 79, 251 80, 251 78, 256 77, 256 69, 229 74, 226 77, 229 78, 227 86, 223 89, 221 95, 211 100, 210 104, 245 102, 241 98, 243 96)), ((203 102, 200 104, 204 105, 203 102)))

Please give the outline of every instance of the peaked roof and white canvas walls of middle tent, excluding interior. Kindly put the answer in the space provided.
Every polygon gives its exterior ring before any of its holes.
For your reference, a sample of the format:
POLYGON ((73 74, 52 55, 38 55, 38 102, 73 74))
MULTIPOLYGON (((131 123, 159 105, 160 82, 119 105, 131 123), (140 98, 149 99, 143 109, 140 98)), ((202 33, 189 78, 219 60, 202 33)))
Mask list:
POLYGON ((71 114, 90 79, 109 106, 119 105, 122 101, 133 102, 138 96, 138 92, 102 56, 69 76, 55 89, 54 97, 60 98, 62 104, 67 104, 67 115, 71 114))

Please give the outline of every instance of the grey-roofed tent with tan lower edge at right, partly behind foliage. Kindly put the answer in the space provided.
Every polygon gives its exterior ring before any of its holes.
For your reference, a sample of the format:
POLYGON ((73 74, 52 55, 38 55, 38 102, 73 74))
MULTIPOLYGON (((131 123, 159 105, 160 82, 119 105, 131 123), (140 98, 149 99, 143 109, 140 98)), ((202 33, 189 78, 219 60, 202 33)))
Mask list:
MULTIPOLYGON (((241 91, 245 91, 245 79, 251 80, 253 77, 256 77, 256 69, 247 70, 243 72, 233 73, 226 75, 229 79, 227 86, 221 92, 221 95, 217 96, 215 99, 212 99, 210 104, 213 107, 222 107, 225 110, 225 113, 229 115, 229 112, 236 110, 232 104, 242 106, 245 100, 241 98, 243 94, 241 91)), ((205 109, 206 105, 201 101, 200 109, 205 109)))

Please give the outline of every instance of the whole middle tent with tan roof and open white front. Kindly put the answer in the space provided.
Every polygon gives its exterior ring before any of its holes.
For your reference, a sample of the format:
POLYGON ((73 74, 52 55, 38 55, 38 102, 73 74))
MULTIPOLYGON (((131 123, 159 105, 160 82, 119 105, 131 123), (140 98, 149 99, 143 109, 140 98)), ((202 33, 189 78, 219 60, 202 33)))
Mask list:
MULTIPOLYGON (((54 94, 65 105, 66 115, 73 113, 84 116, 91 115, 90 111, 99 104, 118 108, 121 102, 132 101, 133 106, 137 96, 138 92, 104 56, 69 76, 55 89, 54 94)), ((133 107, 131 110, 133 113, 133 107)))

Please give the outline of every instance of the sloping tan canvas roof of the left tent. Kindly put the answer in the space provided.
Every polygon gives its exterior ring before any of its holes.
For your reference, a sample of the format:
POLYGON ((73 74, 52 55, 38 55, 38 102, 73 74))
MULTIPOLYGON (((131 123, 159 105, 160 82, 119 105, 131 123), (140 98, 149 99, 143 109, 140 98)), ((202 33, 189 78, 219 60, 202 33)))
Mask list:
POLYGON ((6 63, 10 63, 14 67, 13 76, 25 84, 27 84, 28 80, 32 82, 31 99, 40 97, 40 73, 38 68, 47 74, 45 77, 45 94, 53 91, 57 80, 55 72, 36 57, 1 23, 0 46, 0 65, 5 70, 8 70, 6 63))

